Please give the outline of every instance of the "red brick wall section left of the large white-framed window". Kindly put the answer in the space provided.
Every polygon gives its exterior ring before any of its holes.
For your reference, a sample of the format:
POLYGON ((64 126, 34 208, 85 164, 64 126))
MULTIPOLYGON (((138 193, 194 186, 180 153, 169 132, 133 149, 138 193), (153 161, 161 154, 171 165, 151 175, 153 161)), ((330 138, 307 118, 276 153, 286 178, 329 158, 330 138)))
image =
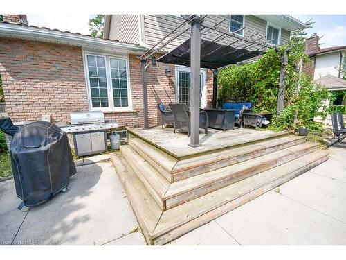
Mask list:
POLYGON ((0 38, 0 75, 14 121, 69 121, 87 110, 82 51, 78 47, 0 38))

